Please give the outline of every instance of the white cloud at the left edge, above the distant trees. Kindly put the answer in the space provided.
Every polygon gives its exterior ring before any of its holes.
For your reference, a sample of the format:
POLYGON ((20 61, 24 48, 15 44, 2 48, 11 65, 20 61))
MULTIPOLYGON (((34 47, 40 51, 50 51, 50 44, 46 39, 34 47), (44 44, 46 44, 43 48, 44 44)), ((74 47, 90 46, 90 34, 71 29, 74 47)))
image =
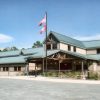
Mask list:
POLYGON ((13 37, 0 33, 0 43, 8 43, 13 40, 14 40, 13 37))

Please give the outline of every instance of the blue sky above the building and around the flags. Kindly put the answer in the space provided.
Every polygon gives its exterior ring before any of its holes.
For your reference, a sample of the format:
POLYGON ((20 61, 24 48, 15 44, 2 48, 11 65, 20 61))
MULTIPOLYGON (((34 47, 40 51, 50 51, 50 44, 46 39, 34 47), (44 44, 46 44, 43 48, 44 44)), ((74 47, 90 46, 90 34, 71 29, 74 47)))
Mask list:
POLYGON ((100 39, 100 0, 0 0, 0 48, 31 48, 43 41, 39 22, 47 12, 48 33, 78 40, 100 39))

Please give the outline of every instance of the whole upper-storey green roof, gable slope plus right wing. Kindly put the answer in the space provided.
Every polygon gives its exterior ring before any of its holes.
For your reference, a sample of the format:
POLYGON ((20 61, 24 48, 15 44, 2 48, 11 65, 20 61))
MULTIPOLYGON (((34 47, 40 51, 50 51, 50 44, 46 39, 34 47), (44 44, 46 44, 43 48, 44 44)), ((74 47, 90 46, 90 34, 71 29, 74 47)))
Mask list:
POLYGON ((50 34, 54 35, 55 38, 61 43, 70 44, 83 49, 100 48, 100 40, 80 41, 53 31, 50 31, 48 35, 50 34))

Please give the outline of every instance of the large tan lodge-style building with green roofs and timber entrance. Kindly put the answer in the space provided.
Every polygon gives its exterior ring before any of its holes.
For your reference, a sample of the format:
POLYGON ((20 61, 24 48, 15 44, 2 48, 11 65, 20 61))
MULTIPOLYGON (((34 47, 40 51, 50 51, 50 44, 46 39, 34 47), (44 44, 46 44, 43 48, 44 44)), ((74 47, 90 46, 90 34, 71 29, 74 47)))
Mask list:
POLYGON ((44 71, 99 71, 100 40, 79 41, 50 31, 47 37, 47 67, 45 40, 41 48, 0 52, 0 75, 33 74, 44 71))

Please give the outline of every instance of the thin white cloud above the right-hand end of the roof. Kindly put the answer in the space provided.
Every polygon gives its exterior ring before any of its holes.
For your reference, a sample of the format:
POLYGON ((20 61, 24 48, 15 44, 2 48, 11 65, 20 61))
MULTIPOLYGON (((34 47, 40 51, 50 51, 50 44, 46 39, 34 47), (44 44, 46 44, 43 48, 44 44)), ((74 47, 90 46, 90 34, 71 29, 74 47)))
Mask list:
POLYGON ((91 35, 91 36, 76 36, 74 38, 82 41, 100 40, 100 34, 91 35))

